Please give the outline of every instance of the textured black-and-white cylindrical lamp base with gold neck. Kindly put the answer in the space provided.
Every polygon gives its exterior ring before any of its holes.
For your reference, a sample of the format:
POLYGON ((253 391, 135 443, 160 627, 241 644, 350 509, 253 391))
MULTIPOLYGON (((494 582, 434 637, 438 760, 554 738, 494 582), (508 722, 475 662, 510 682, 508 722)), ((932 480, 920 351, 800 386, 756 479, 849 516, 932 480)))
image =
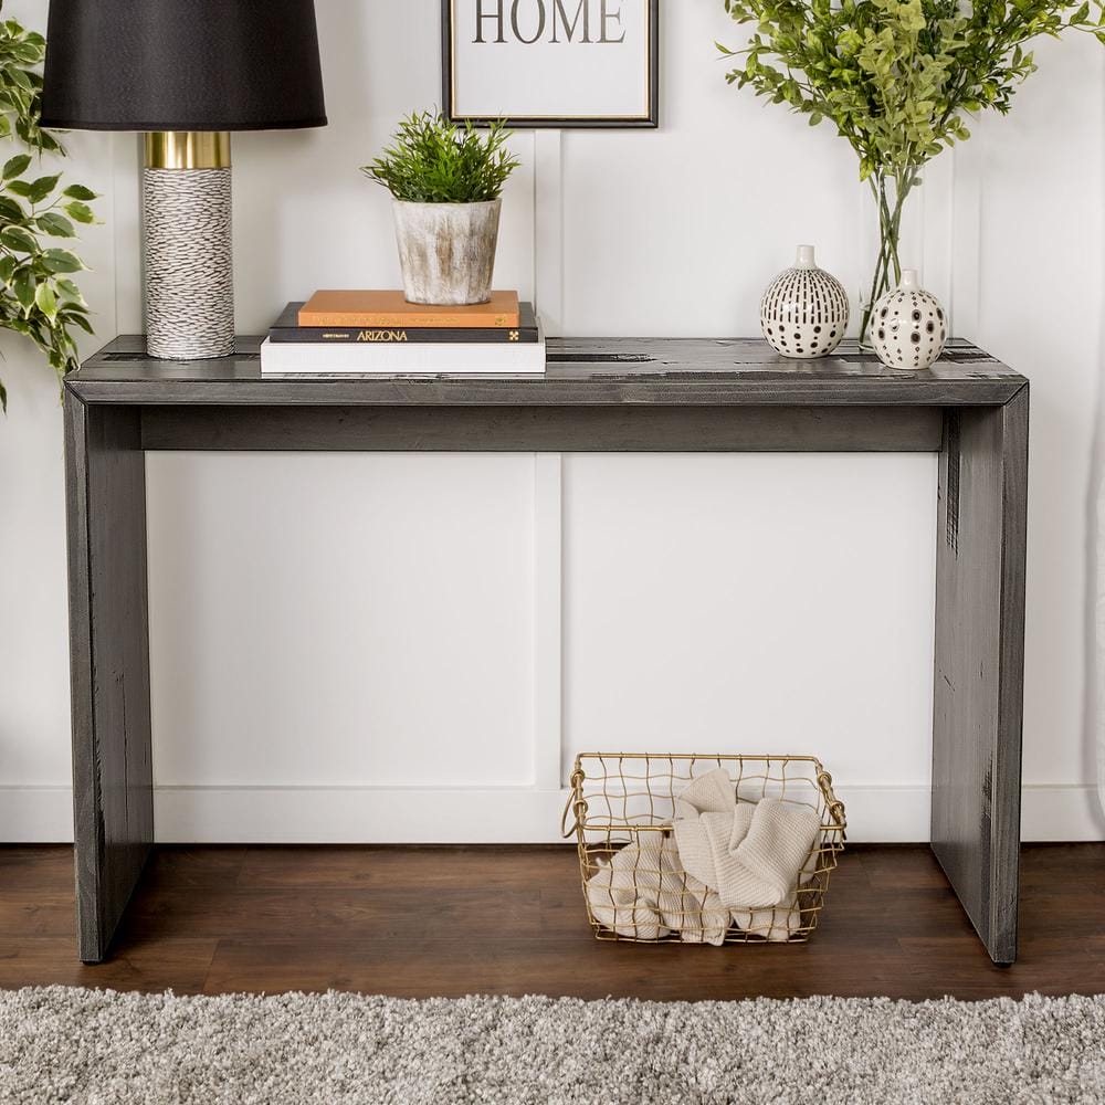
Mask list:
MULTIPOLYGON (((149 136, 189 137, 197 136, 149 136)), ((151 157, 149 138, 143 170, 147 349, 169 360, 225 357, 234 351, 230 166, 173 160, 160 146, 151 157)))

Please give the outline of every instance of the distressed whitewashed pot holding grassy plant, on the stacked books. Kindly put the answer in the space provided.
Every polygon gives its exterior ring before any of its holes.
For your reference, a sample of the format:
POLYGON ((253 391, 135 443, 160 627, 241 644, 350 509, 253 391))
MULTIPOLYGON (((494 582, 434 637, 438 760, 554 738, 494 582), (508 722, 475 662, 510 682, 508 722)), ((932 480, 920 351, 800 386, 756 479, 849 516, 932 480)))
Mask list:
POLYGON ((495 272, 502 200, 394 201, 396 242, 410 303, 486 303, 495 272))

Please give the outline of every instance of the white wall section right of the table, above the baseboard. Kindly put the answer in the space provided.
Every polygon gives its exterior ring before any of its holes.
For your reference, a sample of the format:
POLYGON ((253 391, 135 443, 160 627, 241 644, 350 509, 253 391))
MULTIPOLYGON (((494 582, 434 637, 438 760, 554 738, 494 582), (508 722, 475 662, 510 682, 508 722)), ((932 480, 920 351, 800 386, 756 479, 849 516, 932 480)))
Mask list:
POLYGON ((1088 783, 1105 51, 1076 35, 1042 43, 1036 60, 1010 115, 976 128, 964 187, 979 197, 979 339, 1032 381, 1024 777, 1088 783))

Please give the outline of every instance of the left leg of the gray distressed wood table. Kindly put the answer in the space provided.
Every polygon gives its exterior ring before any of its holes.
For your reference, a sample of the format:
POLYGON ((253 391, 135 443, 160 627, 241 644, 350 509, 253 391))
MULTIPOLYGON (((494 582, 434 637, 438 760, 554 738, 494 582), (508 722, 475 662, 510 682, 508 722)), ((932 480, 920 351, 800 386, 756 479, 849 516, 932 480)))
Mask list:
POLYGON ((154 841, 146 469, 138 412, 65 392, 81 959, 99 962, 154 841))

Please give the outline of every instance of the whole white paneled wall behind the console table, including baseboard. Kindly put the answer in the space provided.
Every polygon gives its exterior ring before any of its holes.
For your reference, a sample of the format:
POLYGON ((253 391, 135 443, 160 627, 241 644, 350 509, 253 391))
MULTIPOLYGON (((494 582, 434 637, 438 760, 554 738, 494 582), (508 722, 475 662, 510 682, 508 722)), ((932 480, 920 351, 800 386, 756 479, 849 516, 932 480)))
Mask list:
MULTIPOLYGON (((235 137, 242 332, 317 286, 398 281, 386 197, 356 167, 435 101, 439 4, 317 7, 330 126, 235 137)), ((663 8, 662 129, 518 135, 497 282, 577 334, 753 334, 799 241, 857 291, 873 234, 849 150, 725 85, 713 41, 739 31, 719 2, 663 8)), ((1092 42, 1041 62, 1009 119, 932 167, 909 241, 957 333, 1033 380, 1025 835, 1097 838, 1105 75, 1092 42)), ((105 192, 84 249, 106 339, 140 324, 136 144, 70 145, 105 192)), ((0 839, 64 839, 61 418, 33 352, 3 350, 0 839)), ((161 839, 549 839, 571 757, 599 748, 817 753, 855 839, 927 832, 929 455, 152 454, 147 472, 161 839)))

